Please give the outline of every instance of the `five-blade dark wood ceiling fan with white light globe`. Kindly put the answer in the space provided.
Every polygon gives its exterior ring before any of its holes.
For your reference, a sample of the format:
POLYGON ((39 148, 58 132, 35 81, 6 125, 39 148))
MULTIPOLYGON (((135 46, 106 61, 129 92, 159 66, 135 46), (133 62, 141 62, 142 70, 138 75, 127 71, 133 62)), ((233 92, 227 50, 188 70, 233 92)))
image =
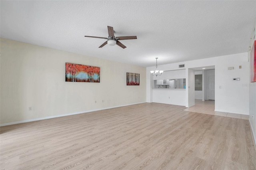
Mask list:
POLYGON ((113 45, 118 45, 122 48, 126 48, 126 46, 124 44, 122 44, 120 41, 118 40, 132 40, 132 39, 137 39, 137 36, 122 36, 122 37, 115 37, 114 36, 114 29, 113 27, 108 26, 108 38, 104 38, 104 37, 94 37, 94 36, 84 36, 84 37, 90 37, 90 38, 102 38, 102 39, 106 39, 107 41, 104 42, 102 45, 100 45, 99 48, 103 47, 104 45, 106 45, 107 43, 111 46, 113 45))

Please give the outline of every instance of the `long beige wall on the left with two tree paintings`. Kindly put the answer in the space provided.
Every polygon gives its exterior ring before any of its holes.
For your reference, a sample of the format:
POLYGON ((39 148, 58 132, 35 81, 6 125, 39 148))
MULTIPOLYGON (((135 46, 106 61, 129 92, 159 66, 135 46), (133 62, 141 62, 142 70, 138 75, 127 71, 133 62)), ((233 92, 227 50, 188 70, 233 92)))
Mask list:
POLYGON ((6 39, 0 50, 2 125, 146 102, 145 67, 6 39), (65 82, 66 62, 100 67, 100 83, 65 82), (140 86, 126 86, 126 72, 140 86))

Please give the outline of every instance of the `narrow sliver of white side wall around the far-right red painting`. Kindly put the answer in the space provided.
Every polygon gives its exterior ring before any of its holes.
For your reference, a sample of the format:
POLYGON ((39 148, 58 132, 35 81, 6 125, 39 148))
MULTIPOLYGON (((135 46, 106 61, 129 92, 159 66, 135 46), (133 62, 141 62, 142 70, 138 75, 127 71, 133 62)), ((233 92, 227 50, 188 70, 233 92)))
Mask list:
MULTIPOLYGON (((256 20, 255 20, 255 27, 256 28, 256 20)), ((252 37, 254 36, 254 29, 252 30, 252 37)), ((254 39, 256 40, 256 38, 254 39)), ((254 42, 253 38, 250 42, 250 46, 252 47, 253 42, 254 42)), ((250 59, 250 52, 248 51, 248 58, 250 59)), ((249 122, 251 125, 251 129, 252 129, 252 133, 254 136, 254 142, 256 144, 256 82, 254 83, 250 83, 250 74, 248 74, 249 77, 249 81, 248 83, 244 84, 244 86, 249 87, 249 113, 250 113, 250 117, 249 117, 249 122)))

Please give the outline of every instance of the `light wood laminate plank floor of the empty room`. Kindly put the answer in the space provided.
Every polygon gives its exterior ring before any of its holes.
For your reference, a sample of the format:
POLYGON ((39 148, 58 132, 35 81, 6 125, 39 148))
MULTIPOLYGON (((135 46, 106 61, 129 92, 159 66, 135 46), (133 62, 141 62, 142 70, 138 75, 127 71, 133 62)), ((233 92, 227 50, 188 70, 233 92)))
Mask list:
POLYGON ((0 128, 1 170, 255 170, 248 120, 142 103, 0 128))

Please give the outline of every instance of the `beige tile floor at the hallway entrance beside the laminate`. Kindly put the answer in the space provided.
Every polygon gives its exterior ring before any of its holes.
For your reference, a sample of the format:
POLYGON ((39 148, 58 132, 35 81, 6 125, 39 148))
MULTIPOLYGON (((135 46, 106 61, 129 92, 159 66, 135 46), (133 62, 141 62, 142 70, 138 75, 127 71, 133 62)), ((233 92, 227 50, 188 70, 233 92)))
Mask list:
POLYGON ((216 115, 216 116, 223 116, 223 117, 232 117, 236 119, 249 119, 249 115, 241 115, 235 113, 226 113, 226 112, 217 112, 214 111, 215 108, 215 101, 214 100, 207 100, 202 101, 195 99, 195 105, 184 109, 184 111, 188 112, 196 112, 196 113, 203 113, 208 115, 216 115))

